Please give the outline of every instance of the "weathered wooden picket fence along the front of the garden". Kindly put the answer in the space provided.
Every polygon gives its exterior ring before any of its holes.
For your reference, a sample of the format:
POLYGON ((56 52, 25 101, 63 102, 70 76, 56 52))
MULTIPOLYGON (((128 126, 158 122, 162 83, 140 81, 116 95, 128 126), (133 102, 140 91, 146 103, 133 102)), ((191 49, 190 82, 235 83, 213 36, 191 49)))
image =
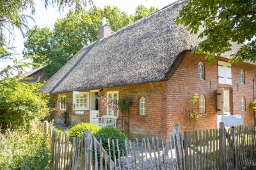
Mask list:
POLYGON ((125 141, 102 147, 90 132, 69 141, 47 121, 36 123, 51 141, 52 169, 243 169, 256 167, 256 127, 235 127, 184 132, 175 126, 168 137, 125 141))

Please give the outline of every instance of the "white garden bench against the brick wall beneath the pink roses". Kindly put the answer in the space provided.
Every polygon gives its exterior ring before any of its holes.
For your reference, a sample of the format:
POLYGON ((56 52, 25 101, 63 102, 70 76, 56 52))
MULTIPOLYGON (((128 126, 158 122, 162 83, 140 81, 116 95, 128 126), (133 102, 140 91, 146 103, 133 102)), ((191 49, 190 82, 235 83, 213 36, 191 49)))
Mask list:
POLYGON ((99 125, 100 127, 116 127, 116 116, 103 115, 99 118, 93 118, 93 123, 99 125))

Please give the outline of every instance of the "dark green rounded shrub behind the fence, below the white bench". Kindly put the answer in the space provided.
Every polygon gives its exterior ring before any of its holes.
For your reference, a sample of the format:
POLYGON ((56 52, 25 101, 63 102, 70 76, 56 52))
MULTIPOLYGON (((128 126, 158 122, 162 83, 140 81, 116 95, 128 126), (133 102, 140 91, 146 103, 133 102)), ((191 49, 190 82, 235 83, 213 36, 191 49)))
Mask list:
MULTIPOLYGON (((118 139, 119 150, 125 150, 125 139, 128 141, 127 135, 125 135, 120 130, 113 127, 104 127, 101 128, 95 135, 95 138, 100 141, 102 139, 102 146, 105 150, 108 150, 108 139, 110 140, 111 150, 113 150, 112 139, 118 139)), ((115 146, 116 150, 116 146, 115 146)), ((113 153, 111 153, 113 156, 113 153)))

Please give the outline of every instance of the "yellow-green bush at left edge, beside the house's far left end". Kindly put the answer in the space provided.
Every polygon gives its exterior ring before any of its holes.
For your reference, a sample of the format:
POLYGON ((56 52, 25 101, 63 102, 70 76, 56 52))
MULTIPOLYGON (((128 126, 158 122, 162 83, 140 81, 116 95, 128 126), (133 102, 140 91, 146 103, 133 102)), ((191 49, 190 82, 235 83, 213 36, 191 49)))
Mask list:
POLYGON ((43 119, 48 113, 48 95, 38 93, 39 82, 17 78, 0 81, 0 125, 27 128, 31 120, 43 119))

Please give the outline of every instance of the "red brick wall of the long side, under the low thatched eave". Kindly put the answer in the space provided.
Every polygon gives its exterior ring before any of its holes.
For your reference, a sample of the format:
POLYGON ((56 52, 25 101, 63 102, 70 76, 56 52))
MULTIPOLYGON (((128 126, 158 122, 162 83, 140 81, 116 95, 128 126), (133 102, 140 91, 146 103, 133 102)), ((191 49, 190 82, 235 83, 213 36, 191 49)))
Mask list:
MULTIPOLYGON (((166 103, 166 82, 155 82, 148 84, 136 84, 131 86, 117 87, 117 88, 104 88, 103 97, 99 100, 99 116, 106 115, 106 108, 104 108, 101 102, 102 98, 106 97, 107 91, 118 91, 119 99, 131 98, 132 106, 129 110, 129 131, 138 134, 157 135, 159 133, 165 133, 165 103, 166 103), (145 97, 146 100, 146 115, 140 116, 139 102, 140 98, 145 97)), ((66 95, 67 102, 72 102, 72 93, 63 93, 60 95, 66 95)), ((56 118, 60 117, 60 101, 58 95, 52 95, 55 97, 57 114, 56 118)), ((82 122, 89 122, 89 111, 84 111, 84 114, 76 114, 72 111, 71 125, 79 122, 74 122, 74 117, 78 117, 82 122)), ((122 126, 122 111, 119 111, 117 127, 122 126)))

